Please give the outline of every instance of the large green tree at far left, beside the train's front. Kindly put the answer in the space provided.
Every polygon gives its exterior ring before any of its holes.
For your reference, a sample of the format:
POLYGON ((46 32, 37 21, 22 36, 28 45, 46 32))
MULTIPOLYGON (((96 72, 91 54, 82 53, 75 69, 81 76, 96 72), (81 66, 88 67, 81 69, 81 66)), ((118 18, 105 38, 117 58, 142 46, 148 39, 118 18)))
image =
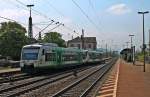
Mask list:
POLYGON ((26 29, 16 22, 3 22, 0 28, 0 54, 20 59, 22 46, 29 43, 26 29))

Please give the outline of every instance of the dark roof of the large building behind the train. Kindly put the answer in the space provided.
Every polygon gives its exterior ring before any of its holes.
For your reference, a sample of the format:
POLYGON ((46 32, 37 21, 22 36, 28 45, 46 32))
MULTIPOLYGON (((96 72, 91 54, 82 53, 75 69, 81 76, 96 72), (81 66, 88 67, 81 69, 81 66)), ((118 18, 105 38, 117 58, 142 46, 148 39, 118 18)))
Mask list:
MULTIPOLYGON (((84 42, 86 43, 96 43, 96 37, 84 37, 84 42)), ((76 37, 72 40, 69 40, 68 42, 81 42, 81 38, 80 37, 76 37)))

